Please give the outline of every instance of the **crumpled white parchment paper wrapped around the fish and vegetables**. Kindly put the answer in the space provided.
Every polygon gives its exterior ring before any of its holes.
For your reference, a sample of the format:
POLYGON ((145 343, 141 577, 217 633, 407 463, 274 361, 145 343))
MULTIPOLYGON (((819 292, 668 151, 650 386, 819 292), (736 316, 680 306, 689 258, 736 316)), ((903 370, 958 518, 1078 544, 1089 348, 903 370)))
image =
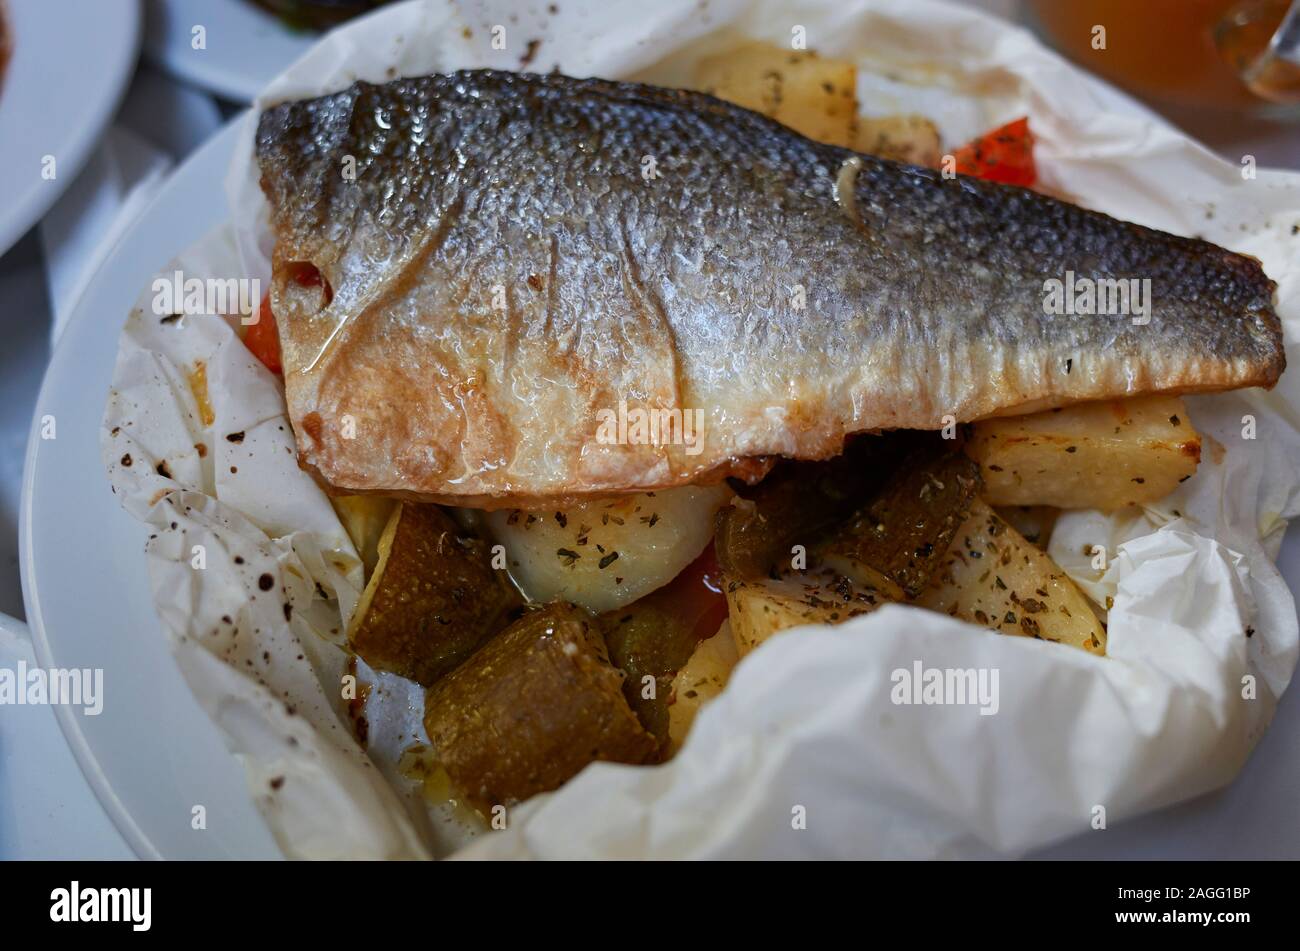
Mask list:
MULTIPOLYGON (((939 3, 560 0, 549 13, 421 0, 325 38, 261 104, 528 57, 537 71, 684 84, 702 56, 748 39, 788 44, 796 30, 809 48, 858 64, 864 113, 920 112, 949 146, 1028 114, 1044 187, 1260 257, 1297 339, 1300 177, 1244 177, 1023 31, 939 3)), ((231 225, 181 256, 187 277, 269 275, 254 121, 226 182, 231 225)), ((281 846, 299 857, 411 857, 464 844, 464 830, 395 768, 421 739, 419 691, 361 665, 374 685, 369 755, 343 715, 335 643, 361 572, 295 465, 278 382, 225 321, 162 325, 148 300, 146 288, 122 334, 105 464, 122 504, 152 526, 155 600, 181 669, 281 846), (196 364, 211 421, 194 394, 196 364), (243 442, 226 438, 237 431, 243 442)), ((1206 437, 1196 477, 1141 511, 1060 520, 1053 557, 1110 604, 1108 657, 898 605, 788 631, 740 664, 672 763, 593 765, 460 855, 1014 855, 1230 782, 1300 643, 1273 565, 1300 512, 1297 396, 1292 372, 1270 394, 1190 400, 1206 437), (1104 570, 1083 555, 1096 544, 1109 553, 1104 570), (893 672, 916 663, 997 672, 996 713, 894 703, 893 672)))

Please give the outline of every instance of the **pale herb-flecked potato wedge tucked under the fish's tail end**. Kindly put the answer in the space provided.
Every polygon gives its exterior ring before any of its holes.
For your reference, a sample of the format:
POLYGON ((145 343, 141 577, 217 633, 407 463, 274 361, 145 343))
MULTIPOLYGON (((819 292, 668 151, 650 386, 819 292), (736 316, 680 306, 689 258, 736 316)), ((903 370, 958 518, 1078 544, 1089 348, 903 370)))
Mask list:
POLYGON ((991 505, 1100 508, 1156 501, 1190 478, 1201 438, 1176 396, 1080 403, 971 426, 991 505))

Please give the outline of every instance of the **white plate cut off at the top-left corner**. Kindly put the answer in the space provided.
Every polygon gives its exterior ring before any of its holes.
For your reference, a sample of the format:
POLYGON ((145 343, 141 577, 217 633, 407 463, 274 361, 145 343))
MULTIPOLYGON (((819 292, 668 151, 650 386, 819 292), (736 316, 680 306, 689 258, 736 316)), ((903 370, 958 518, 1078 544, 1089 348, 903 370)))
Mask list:
POLYGON ((139 0, 8 0, 0 86, 0 255, 72 184, 126 91, 139 0), (55 177, 43 160, 55 158, 55 177))

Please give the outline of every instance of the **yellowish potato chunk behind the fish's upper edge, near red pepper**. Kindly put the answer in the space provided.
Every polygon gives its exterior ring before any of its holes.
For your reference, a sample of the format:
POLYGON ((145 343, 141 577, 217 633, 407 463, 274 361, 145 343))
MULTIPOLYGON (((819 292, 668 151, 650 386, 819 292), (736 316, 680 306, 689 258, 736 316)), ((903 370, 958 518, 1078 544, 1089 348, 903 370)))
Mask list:
POLYGON ((702 60, 693 86, 810 139, 850 148, 858 116, 857 83, 852 62, 750 43, 702 60))

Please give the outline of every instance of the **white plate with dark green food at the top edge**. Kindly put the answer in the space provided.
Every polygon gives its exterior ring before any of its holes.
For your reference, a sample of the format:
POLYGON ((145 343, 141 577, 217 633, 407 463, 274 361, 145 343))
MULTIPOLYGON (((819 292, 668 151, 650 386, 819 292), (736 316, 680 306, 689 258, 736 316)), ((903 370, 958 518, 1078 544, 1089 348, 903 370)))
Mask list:
POLYGON ((248 0, 147 0, 144 55, 172 75, 251 103, 318 39, 290 30, 248 0), (194 29, 204 31, 194 48, 194 29))

